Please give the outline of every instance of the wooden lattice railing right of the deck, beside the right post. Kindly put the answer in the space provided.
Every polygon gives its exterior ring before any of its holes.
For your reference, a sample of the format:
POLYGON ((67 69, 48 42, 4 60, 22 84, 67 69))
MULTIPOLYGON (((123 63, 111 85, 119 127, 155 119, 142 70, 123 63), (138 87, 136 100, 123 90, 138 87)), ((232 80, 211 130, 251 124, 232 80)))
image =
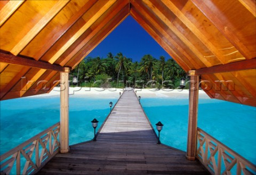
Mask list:
POLYGON ((211 174, 256 174, 256 166, 197 128, 197 159, 211 174))

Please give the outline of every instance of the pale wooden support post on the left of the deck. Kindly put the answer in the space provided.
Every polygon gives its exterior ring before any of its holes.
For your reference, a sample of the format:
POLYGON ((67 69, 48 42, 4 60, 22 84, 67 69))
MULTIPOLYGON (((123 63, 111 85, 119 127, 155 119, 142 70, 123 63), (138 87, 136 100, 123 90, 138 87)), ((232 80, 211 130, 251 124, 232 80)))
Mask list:
POLYGON ((60 72, 60 153, 69 151, 69 68, 60 72))

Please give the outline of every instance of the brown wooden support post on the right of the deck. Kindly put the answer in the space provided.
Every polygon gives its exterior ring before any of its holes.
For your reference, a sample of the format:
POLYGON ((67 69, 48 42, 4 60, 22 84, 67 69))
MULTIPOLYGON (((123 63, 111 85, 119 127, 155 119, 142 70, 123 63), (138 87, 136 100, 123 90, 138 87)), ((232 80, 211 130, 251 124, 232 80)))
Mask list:
POLYGON ((188 110, 188 143, 187 159, 194 161, 196 158, 197 139, 197 111, 198 111, 198 89, 199 76, 195 75, 195 70, 189 71, 189 110, 188 110))

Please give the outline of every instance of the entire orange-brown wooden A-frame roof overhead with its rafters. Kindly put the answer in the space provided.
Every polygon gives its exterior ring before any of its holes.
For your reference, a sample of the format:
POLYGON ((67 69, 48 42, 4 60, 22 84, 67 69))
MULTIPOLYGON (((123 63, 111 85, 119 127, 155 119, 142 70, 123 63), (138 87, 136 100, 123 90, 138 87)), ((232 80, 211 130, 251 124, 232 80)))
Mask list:
POLYGON ((48 93, 131 15, 211 98, 256 106, 254 0, 0 1, 0 99, 48 93))

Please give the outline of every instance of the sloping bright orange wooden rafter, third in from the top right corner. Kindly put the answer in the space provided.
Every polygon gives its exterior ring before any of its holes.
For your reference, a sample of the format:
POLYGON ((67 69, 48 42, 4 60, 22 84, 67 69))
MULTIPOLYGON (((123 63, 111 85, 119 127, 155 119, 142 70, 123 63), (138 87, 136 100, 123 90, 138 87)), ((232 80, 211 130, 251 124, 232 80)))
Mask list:
POLYGON ((217 57, 217 59, 224 64, 225 57, 219 52, 219 50, 211 43, 207 37, 176 7, 171 1, 162 1, 169 10, 171 10, 188 28, 192 31, 195 36, 198 37, 202 43, 209 48, 209 50, 217 57))

